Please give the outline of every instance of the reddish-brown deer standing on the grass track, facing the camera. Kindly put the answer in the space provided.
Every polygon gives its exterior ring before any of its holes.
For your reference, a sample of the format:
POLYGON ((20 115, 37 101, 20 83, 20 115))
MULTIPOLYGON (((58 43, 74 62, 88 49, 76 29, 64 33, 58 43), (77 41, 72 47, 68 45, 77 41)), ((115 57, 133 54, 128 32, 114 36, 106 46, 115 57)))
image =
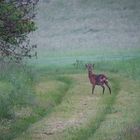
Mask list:
POLYGON ((109 89, 110 94, 111 94, 111 88, 108 84, 107 76, 105 76, 104 74, 99 74, 99 75, 94 74, 92 72, 93 68, 94 68, 94 64, 86 64, 86 68, 88 70, 89 81, 92 84, 92 94, 94 93, 94 89, 95 89, 96 85, 101 86, 103 88, 103 94, 104 94, 104 91, 105 91, 105 86, 104 85, 106 85, 109 89))

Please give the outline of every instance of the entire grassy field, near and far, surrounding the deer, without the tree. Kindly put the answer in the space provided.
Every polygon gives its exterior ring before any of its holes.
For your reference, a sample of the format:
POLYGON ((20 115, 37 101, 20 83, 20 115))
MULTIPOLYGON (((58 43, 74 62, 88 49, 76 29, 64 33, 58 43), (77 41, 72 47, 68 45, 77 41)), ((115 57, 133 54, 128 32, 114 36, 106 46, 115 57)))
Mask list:
POLYGON ((41 0, 38 59, 0 62, 0 139, 139 140, 139 6, 41 0), (109 77, 111 95, 91 94, 86 63, 109 77))

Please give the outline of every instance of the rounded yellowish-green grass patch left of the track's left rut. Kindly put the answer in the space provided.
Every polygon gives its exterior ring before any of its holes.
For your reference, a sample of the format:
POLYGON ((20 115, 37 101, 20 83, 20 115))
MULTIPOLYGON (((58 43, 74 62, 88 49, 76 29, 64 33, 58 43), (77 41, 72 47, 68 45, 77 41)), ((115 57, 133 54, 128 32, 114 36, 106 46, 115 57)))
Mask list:
MULTIPOLYGON (((47 81, 44 78, 41 80, 43 80, 43 82, 41 81, 41 83, 38 83, 36 87, 37 98, 38 103, 40 104, 39 106, 44 108, 43 116, 47 117, 51 112, 54 111, 54 108, 61 103, 65 94, 72 86, 72 79, 64 76, 56 76, 55 78, 49 76, 47 77, 47 81)), ((40 119, 42 120, 43 118, 40 119)), ((35 122, 37 122, 37 120, 33 121, 33 123, 35 122)), ((24 123, 26 123, 26 120, 24 123)), ((24 138, 26 139, 26 137, 24 138)), ((21 137, 17 137, 16 139, 21 139, 21 137)))

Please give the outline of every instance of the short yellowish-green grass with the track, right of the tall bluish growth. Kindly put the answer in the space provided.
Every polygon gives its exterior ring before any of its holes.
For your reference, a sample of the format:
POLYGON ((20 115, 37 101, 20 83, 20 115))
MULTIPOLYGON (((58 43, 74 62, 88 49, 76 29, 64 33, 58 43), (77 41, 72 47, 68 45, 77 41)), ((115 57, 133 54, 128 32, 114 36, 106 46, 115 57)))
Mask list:
POLYGON ((36 85, 39 103, 53 109, 17 139, 139 139, 138 79, 108 70, 112 95, 108 90, 102 95, 98 87, 92 95, 85 71, 62 73, 41 76, 43 80, 36 85))

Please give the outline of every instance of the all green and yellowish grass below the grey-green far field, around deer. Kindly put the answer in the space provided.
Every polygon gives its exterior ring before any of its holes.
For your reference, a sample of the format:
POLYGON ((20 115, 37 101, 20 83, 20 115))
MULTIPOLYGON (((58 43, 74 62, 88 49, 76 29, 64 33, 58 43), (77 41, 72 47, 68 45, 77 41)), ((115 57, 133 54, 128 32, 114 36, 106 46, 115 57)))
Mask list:
POLYGON ((139 128, 139 67, 133 70, 133 65, 138 66, 139 61, 131 61, 95 63, 95 68, 98 68, 96 73, 104 71, 109 75, 113 88, 111 96, 108 90, 102 96, 100 88, 91 95, 84 67, 50 66, 33 70, 25 65, 7 67, 3 64, 0 77, 0 138, 34 139, 36 132, 38 135, 45 133, 45 138, 50 139, 102 139, 105 136, 106 139, 127 139, 127 134, 131 134, 132 138, 134 135, 138 137, 134 130, 139 128), (130 101, 133 103, 130 104, 130 101), (125 104, 124 107, 122 104, 125 104), (53 116, 58 119, 58 124, 57 121, 53 124, 53 116), (74 118, 73 124, 71 121, 74 118), (28 129, 35 122, 36 125, 28 129), (53 132, 57 125, 60 129, 53 132), (113 131, 111 128, 116 125, 113 131), (64 133, 59 133, 61 129, 64 133), (25 130, 28 131, 20 137, 25 130))

